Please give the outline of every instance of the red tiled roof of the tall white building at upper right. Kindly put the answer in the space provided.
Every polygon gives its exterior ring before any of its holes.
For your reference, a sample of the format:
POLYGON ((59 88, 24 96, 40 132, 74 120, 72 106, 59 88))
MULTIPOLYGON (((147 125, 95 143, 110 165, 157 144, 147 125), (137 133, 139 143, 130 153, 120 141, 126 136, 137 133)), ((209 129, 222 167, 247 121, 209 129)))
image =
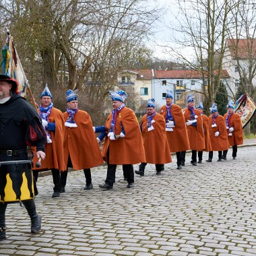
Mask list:
POLYGON ((249 39, 227 39, 226 44, 230 49, 232 59, 256 58, 256 38, 249 39))

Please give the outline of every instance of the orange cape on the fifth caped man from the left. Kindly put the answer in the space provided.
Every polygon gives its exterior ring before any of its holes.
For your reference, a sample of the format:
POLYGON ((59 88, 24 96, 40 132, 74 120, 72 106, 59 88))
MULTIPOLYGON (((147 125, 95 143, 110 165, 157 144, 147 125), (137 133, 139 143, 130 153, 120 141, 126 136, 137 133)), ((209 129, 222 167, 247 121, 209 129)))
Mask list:
MULTIPOLYGON (((166 131, 170 152, 181 152, 189 150, 189 137, 187 135, 185 118, 181 107, 176 104, 172 104, 170 111, 175 122, 175 127, 172 128, 173 131, 166 131)), ((160 115, 166 119, 167 108, 165 105, 160 108, 160 115)))

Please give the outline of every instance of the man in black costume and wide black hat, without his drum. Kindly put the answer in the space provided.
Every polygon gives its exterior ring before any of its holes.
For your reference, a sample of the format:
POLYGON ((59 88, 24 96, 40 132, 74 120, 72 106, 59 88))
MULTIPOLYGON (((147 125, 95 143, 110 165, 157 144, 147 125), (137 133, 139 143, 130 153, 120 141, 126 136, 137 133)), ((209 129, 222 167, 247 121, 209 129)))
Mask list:
MULTIPOLYGON (((46 134, 38 113, 18 95, 18 82, 7 75, 0 75, 0 164, 5 161, 28 160, 27 146, 36 146, 36 156, 43 160, 45 139, 46 134)), ((38 233, 41 217, 36 212, 34 199, 22 203, 31 219, 31 232, 38 233)), ((7 203, 0 202, 0 240, 6 238, 6 207, 7 203)))

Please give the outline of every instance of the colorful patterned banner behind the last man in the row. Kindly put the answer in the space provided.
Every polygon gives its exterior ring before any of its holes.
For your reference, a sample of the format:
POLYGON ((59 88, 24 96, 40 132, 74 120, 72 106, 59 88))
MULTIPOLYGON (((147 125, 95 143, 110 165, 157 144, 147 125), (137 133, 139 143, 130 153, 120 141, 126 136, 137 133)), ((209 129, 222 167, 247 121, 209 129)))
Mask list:
POLYGON ((240 115, 243 129, 253 118, 256 106, 253 100, 246 93, 243 94, 234 105, 234 112, 240 115))

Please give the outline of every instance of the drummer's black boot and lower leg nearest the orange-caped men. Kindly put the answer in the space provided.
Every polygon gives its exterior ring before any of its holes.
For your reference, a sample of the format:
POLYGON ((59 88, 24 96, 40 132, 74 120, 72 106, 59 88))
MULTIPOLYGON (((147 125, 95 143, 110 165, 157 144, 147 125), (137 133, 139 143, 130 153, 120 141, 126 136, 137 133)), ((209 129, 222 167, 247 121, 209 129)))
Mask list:
POLYGON ((41 220, 42 217, 39 216, 36 212, 36 205, 34 200, 28 200, 22 202, 28 211, 28 215, 31 219, 31 232, 37 234, 41 229, 41 220))

